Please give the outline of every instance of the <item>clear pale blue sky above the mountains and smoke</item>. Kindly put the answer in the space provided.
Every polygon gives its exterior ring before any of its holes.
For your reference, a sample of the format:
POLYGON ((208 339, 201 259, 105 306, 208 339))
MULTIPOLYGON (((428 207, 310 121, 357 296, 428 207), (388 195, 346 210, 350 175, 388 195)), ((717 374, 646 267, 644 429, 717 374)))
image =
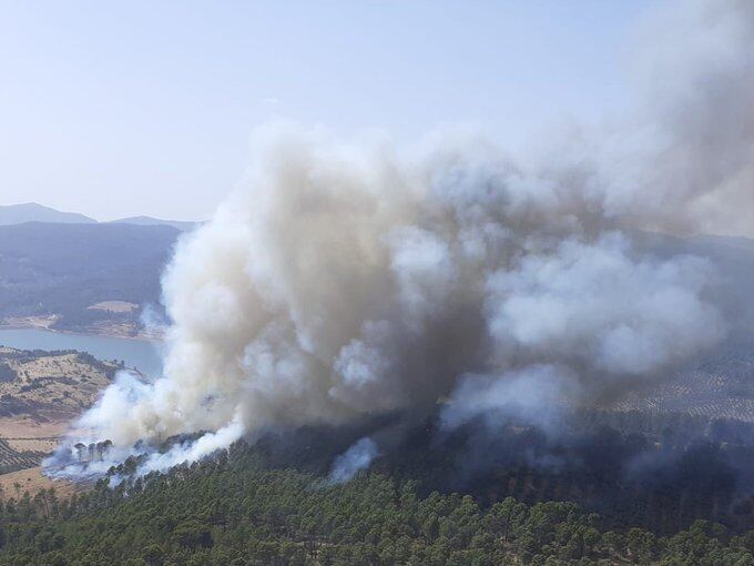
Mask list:
POLYGON ((0 0, 0 204, 202 219, 271 118, 516 148, 625 101, 649 0, 0 0))

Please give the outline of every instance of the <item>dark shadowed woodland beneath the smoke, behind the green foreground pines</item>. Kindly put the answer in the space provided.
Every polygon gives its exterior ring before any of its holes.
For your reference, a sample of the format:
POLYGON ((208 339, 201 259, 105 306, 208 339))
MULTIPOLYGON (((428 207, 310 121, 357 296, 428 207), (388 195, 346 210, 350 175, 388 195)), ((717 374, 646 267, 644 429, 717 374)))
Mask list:
MULTIPOLYGON (((754 526, 748 423, 677 415, 644 415, 640 422, 634 414, 601 412, 564 421, 557 437, 518 423, 493 434, 483 423, 451 434, 432 426, 410 429, 401 437, 408 439, 386 451, 371 469, 420 478, 422 496, 458 491, 485 507, 508 496, 528 505, 571 501, 600 513, 605 529, 641 526, 668 536, 696 518, 736 533, 754 526)), ((299 444, 322 447, 309 439, 299 444)), ((306 465, 305 458, 279 461, 278 467, 306 465)))

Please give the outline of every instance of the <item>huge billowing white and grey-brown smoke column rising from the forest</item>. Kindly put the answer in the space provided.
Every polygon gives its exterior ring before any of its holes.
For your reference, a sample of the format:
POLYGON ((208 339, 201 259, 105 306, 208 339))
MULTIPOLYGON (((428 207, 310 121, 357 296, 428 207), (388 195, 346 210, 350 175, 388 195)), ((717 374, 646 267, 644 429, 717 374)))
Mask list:
POLYGON ((144 464, 163 469, 271 428, 438 401, 449 425, 551 415, 715 344, 711 266, 630 237, 754 225, 754 2, 681 6, 650 36, 652 103, 631 127, 526 165, 471 137, 397 149, 257 130, 245 188, 164 275, 164 376, 119 377, 78 431, 115 458, 210 431, 144 464))

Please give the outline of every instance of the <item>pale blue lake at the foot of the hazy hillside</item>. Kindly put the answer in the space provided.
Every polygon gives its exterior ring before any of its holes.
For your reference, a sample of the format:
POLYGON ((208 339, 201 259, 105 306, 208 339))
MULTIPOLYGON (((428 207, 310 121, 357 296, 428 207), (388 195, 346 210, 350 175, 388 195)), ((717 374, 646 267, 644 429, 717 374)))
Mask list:
POLYGON ((161 344, 147 340, 64 334, 37 329, 0 329, 0 345, 19 350, 79 350, 100 360, 123 360, 126 366, 152 376, 162 373, 161 344))

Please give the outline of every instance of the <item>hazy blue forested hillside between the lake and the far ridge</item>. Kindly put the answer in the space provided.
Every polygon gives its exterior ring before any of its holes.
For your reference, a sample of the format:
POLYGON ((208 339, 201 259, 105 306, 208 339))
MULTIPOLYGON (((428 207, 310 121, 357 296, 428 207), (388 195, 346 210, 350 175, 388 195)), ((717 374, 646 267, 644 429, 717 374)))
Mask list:
POLYGON ((137 320, 137 311, 90 307, 108 301, 159 303, 160 274, 179 234, 164 225, 0 226, 0 320, 57 315, 54 325, 67 330, 137 320))

